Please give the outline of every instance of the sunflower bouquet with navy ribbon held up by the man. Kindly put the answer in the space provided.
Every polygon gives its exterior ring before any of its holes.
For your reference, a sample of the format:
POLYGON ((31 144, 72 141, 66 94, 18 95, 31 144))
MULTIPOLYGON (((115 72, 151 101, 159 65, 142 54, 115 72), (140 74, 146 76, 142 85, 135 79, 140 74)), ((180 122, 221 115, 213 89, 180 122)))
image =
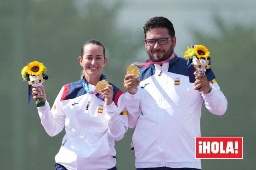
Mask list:
POLYGON ((195 82, 195 75, 203 73, 208 81, 215 78, 210 69, 210 51, 203 45, 192 45, 184 52, 184 58, 188 60, 189 81, 195 82))

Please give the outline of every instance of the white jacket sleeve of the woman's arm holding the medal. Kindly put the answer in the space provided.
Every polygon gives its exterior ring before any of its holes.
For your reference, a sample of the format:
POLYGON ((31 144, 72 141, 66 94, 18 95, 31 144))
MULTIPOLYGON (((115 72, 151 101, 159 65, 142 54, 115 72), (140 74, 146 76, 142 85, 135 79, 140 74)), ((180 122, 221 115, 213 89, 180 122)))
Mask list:
POLYGON ((124 104, 124 94, 118 96, 110 105, 105 107, 105 120, 109 137, 118 141, 124 137, 128 129, 127 111, 124 104))

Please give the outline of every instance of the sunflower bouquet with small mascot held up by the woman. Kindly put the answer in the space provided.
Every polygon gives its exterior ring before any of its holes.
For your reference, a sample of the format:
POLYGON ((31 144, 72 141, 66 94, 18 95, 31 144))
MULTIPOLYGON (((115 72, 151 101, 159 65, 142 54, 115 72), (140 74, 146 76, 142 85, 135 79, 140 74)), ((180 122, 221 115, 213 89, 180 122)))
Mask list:
MULTIPOLYGON (((43 87, 43 83, 48 79, 46 67, 43 63, 33 61, 21 69, 21 75, 23 80, 29 83, 28 104, 30 104, 32 87, 43 87)), ((45 105, 45 101, 42 98, 38 98, 35 104, 37 107, 41 107, 45 105)))

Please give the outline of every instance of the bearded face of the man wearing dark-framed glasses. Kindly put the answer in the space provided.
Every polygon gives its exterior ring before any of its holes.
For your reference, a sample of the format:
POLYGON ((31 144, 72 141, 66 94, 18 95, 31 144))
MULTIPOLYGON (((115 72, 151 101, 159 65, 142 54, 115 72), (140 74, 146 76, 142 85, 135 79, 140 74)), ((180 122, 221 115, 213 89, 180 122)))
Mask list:
MULTIPOLYGON (((146 39, 159 39, 170 37, 167 28, 153 28, 146 33, 146 39)), ((154 46, 145 43, 147 54, 152 61, 164 61, 173 54, 176 46, 176 37, 167 39, 166 45, 159 45, 156 41, 154 46)))

